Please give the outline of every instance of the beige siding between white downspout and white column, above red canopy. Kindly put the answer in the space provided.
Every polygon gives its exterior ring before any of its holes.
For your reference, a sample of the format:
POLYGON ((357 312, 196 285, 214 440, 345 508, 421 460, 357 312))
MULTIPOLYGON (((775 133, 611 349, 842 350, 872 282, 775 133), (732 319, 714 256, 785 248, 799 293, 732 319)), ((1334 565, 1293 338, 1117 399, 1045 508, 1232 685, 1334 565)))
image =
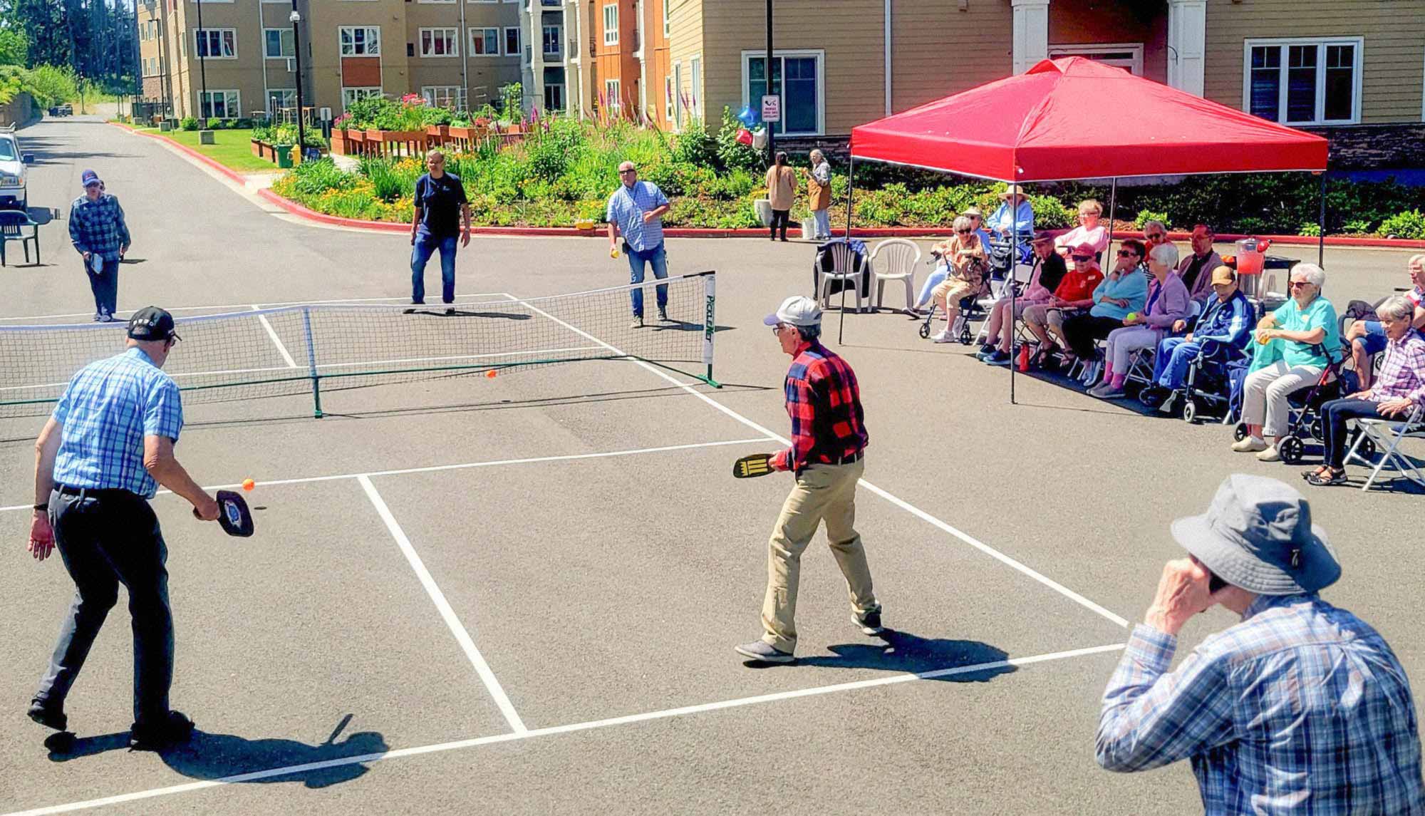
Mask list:
POLYGON ((965 11, 938 0, 895 3, 892 111, 1007 77, 1013 67, 1012 29, 1009 0, 972 1, 965 11))

